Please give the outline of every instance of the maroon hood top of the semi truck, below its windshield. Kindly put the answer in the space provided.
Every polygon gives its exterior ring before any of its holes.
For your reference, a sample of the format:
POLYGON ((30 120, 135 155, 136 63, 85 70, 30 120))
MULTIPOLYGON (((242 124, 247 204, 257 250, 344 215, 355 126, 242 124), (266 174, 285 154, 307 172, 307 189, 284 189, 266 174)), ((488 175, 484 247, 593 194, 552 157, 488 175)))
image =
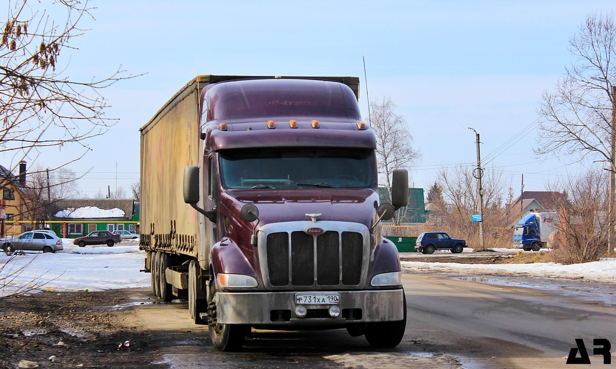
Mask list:
MULTIPOLYGON (((306 214, 322 214, 318 221, 362 223, 370 228, 379 197, 373 189, 248 189, 227 190, 221 204, 240 218, 240 209, 254 204, 259 226, 290 221, 309 221, 306 214)), ((241 219, 241 218, 240 218, 241 219)))

